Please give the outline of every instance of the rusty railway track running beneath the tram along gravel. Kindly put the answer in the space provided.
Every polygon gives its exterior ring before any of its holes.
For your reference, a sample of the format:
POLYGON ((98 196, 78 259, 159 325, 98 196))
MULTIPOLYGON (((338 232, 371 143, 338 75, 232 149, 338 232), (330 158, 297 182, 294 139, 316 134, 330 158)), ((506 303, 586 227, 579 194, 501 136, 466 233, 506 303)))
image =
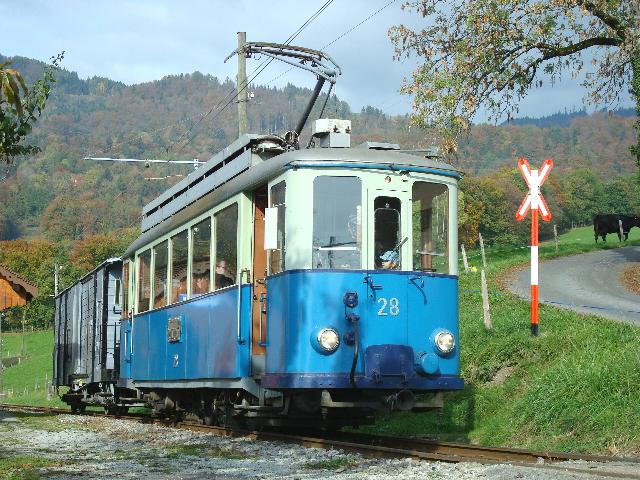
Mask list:
MULTIPOLYGON (((23 405, 0 404, 0 409, 34 413, 70 414, 67 409, 23 405)), ((336 448, 359 453, 365 457, 414 458, 447 463, 508 464, 518 467, 579 473, 591 477, 640 480, 640 458, 488 447, 350 432, 307 432, 301 435, 274 431, 230 430, 224 427, 175 422, 143 415, 112 417, 100 412, 86 412, 84 415, 153 423, 221 436, 248 437, 255 440, 294 443, 305 447, 336 448)))

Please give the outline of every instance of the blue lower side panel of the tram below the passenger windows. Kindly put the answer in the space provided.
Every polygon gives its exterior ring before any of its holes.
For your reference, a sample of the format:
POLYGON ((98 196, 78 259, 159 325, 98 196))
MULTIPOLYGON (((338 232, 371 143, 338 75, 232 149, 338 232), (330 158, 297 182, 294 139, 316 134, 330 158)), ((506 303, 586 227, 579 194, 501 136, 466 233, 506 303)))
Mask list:
POLYGON ((121 355, 125 364, 130 364, 131 379, 137 382, 248 376, 250 285, 242 286, 241 300, 243 342, 237 341, 237 287, 136 315, 129 334, 132 350, 121 355), (170 338, 170 321, 180 326, 177 338, 170 338))

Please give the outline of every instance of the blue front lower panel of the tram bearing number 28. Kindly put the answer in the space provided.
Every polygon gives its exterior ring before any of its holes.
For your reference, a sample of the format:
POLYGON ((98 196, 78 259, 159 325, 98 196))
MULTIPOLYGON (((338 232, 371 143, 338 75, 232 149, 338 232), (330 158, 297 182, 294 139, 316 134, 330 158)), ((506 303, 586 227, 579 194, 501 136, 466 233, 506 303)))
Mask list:
POLYGON ((355 388, 367 389, 456 390, 463 387, 458 338, 455 276, 290 270, 267 279, 262 385, 354 388, 355 383, 355 388), (332 352, 319 347, 318 334, 326 329, 340 339, 332 352), (434 341, 442 330, 456 339, 446 355, 434 341))

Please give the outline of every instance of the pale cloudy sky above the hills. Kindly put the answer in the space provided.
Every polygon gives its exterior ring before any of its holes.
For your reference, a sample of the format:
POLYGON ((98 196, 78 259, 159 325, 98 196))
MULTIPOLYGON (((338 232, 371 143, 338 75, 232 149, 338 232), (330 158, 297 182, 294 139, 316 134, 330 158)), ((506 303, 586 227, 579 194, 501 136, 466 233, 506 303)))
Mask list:
MULTIPOLYGON (((295 40, 294 44, 321 49, 390 0, 334 0, 295 40)), ((236 48, 236 32, 249 41, 284 42, 325 0, 139 0, 47 1, 2 0, 0 53, 48 60, 66 52, 63 66, 81 78, 94 75, 126 84, 157 80, 165 75, 199 70, 221 79, 235 76, 237 61, 223 63, 236 48)), ((419 25, 415 14, 400 9, 396 0, 326 49, 342 67, 337 94, 354 110, 373 105, 397 114, 410 111, 411 99, 398 89, 415 62, 393 61, 387 32, 399 23, 419 25)), ((249 60, 251 73, 259 61, 249 60)), ((273 62, 256 79, 264 84, 289 67, 273 62)), ((291 71, 271 85, 291 82, 313 87, 315 78, 291 71)), ((539 117, 565 108, 582 107, 584 91, 578 82, 531 92, 520 116, 539 117)), ((623 106, 631 103, 625 99, 623 106)), ((478 118, 482 121, 483 118, 478 118)))

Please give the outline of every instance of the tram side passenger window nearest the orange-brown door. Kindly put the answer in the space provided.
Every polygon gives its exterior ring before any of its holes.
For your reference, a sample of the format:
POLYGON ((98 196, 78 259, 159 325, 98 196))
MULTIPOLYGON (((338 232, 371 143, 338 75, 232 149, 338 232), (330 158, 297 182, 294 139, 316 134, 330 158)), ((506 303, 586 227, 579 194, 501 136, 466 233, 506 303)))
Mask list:
POLYGON ((216 290, 235 285, 237 266, 238 204, 234 203, 216 213, 216 290))

